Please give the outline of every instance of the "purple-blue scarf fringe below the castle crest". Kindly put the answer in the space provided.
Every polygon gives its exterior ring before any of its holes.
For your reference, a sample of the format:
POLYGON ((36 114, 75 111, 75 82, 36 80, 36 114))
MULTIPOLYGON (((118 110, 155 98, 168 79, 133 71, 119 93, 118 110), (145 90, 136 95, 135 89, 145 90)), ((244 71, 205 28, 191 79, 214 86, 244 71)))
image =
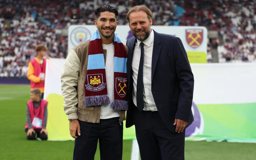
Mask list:
POLYGON ((95 95, 95 96, 87 96, 85 97, 84 106, 99 106, 99 105, 107 105, 110 103, 110 99, 108 95, 95 95))

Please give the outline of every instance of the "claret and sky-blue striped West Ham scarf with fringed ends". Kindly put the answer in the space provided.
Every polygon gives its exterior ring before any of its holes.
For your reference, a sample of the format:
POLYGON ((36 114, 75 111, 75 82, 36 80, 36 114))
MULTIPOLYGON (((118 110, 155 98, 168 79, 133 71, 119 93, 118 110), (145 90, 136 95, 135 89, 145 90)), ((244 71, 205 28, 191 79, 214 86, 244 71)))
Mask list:
MULTIPOLYGON (((127 53, 121 40, 114 33, 114 101, 112 109, 127 110, 127 53)), ((98 30, 89 44, 88 65, 85 79, 84 106, 99 106, 110 103, 107 95, 105 59, 98 30)))

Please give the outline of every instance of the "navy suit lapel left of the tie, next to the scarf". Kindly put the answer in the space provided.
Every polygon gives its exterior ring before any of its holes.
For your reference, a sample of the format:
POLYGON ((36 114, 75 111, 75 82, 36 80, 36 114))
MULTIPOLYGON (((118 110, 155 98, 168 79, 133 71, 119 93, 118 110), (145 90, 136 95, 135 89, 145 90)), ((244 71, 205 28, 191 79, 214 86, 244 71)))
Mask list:
POLYGON ((128 57, 127 57, 127 78, 128 78, 128 82, 131 82, 130 78, 131 78, 131 64, 132 64, 132 60, 133 60, 133 52, 134 52, 134 48, 135 48, 135 43, 136 43, 136 38, 132 37, 130 43, 127 43, 127 47, 128 47, 128 57))

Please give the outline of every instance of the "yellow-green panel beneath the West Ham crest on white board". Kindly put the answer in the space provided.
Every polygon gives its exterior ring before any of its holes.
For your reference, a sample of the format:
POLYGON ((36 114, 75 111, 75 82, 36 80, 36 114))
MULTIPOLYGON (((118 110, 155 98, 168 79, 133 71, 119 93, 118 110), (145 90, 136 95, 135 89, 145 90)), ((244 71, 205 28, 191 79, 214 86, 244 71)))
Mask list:
POLYGON ((189 63, 207 63, 207 56, 204 52, 188 52, 189 63))

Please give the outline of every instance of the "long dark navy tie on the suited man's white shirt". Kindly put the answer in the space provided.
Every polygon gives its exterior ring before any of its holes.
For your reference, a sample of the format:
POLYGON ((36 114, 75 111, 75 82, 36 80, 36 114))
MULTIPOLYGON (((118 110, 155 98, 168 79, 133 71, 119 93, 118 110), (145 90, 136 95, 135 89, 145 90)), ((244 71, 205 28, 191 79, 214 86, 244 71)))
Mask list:
POLYGON ((144 108, 144 99, 143 99, 144 43, 141 42, 139 45, 141 46, 141 59, 139 60, 136 98, 137 98, 137 108, 141 112, 144 108))

